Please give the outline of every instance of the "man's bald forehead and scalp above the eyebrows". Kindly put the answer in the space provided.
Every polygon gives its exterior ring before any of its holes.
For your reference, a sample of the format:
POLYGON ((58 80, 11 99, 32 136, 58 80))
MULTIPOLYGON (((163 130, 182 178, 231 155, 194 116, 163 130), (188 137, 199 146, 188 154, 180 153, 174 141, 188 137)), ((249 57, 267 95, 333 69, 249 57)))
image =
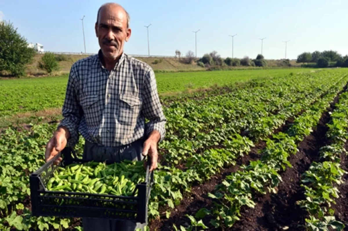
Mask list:
POLYGON ((121 7, 103 7, 99 12, 98 23, 127 27, 127 16, 121 7))

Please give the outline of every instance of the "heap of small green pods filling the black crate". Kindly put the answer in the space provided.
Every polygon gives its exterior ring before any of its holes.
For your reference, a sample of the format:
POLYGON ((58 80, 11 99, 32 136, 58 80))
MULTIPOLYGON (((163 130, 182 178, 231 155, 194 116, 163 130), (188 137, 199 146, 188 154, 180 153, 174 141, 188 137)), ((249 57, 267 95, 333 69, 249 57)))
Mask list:
POLYGON ((88 162, 57 167, 47 182, 50 191, 70 191, 116 196, 137 196, 136 184, 145 181, 143 161, 121 163, 88 162))

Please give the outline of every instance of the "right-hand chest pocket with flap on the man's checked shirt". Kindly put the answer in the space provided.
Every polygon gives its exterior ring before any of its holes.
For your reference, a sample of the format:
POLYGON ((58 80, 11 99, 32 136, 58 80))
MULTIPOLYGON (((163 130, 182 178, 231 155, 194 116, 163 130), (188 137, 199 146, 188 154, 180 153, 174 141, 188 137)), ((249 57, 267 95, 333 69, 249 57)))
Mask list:
POLYGON ((142 101, 138 96, 120 94, 119 123, 134 128, 140 115, 141 106, 142 101))

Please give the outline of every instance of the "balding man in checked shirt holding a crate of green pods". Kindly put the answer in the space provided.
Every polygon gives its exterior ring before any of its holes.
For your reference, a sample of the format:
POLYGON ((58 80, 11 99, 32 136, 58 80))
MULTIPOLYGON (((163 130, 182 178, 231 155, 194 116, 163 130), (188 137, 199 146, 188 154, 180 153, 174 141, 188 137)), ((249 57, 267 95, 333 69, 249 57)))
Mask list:
MULTIPOLYGON (((102 5, 95 33, 97 55, 77 61, 70 71, 63 116, 46 146, 46 161, 66 145, 85 138, 88 160, 141 160, 149 155, 157 168, 157 143, 165 135, 166 119, 151 67, 123 53, 130 38, 129 15, 116 3, 102 5), (145 124, 145 118, 149 122, 145 124)), ((59 163, 58 158, 55 163, 59 163)), ((83 218, 85 231, 135 230, 144 224, 83 218)))

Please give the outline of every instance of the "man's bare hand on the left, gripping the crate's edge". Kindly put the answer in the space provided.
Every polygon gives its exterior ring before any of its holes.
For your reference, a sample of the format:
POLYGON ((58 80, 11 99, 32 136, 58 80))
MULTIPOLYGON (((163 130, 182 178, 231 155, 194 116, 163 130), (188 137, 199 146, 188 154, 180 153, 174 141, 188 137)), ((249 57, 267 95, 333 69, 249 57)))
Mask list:
MULTIPOLYGON (((53 137, 48 141, 46 145, 46 162, 55 157, 60 151, 65 148, 69 137, 70 133, 66 127, 59 127, 57 131, 54 132, 53 137)), ((54 164, 59 164, 61 161, 62 157, 59 157, 54 161, 54 164)))

